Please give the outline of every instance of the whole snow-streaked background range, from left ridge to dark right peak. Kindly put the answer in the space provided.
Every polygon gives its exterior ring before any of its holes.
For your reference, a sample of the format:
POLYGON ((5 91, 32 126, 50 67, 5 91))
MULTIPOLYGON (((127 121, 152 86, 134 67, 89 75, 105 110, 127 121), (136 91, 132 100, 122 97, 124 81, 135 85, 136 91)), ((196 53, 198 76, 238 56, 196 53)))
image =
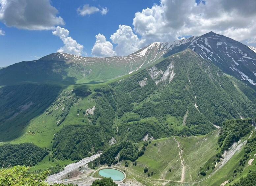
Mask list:
POLYGON ((53 53, 39 60, 1 69, 0 86, 22 81, 99 83, 154 65, 186 48, 256 89, 256 53, 238 41, 213 32, 174 42, 154 42, 125 57, 97 58, 53 53))

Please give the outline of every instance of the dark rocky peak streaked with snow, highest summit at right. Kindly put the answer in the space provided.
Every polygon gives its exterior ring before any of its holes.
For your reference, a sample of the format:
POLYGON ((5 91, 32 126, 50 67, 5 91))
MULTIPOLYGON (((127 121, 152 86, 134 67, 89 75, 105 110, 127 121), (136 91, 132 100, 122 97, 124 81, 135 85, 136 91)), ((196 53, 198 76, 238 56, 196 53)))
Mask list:
POLYGON ((245 81, 255 89, 256 53, 246 45, 213 32, 168 44, 170 47, 165 56, 190 48, 223 72, 245 81))

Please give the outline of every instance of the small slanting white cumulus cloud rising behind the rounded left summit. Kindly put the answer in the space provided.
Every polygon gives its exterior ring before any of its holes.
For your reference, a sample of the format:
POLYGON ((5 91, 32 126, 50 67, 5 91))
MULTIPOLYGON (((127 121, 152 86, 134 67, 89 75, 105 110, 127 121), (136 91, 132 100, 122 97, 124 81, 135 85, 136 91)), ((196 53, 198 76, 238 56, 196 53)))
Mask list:
POLYGON ((81 56, 83 53, 84 46, 77 43, 76 40, 72 39, 69 36, 69 31, 65 28, 56 27, 56 29, 52 32, 53 35, 59 36, 63 41, 64 46, 60 47, 57 52, 64 52, 69 54, 74 54, 81 56))

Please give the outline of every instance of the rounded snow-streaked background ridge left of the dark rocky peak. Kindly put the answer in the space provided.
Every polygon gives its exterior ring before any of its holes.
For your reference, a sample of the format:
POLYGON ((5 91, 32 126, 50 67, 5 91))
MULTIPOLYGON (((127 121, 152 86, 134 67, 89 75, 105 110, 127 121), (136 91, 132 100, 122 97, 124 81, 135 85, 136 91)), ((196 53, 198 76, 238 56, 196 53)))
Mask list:
POLYGON ((80 57, 53 53, 39 60, 20 62, 0 71, 0 86, 16 82, 52 82, 81 84, 106 81, 138 71, 162 60, 160 43, 125 57, 80 57))

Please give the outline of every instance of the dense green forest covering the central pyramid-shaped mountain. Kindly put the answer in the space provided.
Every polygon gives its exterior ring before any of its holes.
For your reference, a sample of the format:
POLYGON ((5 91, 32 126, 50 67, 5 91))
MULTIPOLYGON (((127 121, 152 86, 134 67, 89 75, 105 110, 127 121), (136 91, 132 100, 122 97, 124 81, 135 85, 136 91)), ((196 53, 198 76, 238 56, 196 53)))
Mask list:
MULTIPOLYGON (((170 63, 174 64, 176 73, 171 83, 159 82, 156 85, 148 69, 145 69, 94 90, 74 89, 76 95, 69 94, 72 103, 65 101, 65 109, 74 106, 78 96, 86 95, 96 103, 96 109, 93 115, 86 116, 89 123, 64 126, 56 133, 52 146, 54 156, 80 160, 107 149, 112 137, 116 138, 117 143, 123 139, 137 143, 146 134, 154 139, 204 135, 215 129, 211 122, 222 125, 225 120, 239 118, 238 111, 245 117, 256 113, 254 104, 238 92, 232 81, 217 67, 184 54, 180 58, 168 58, 157 64, 156 68, 164 71, 170 63), (195 62, 192 63, 192 60, 195 62), (194 75, 190 77, 189 73, 194 75), (147 84, 140 86, 139 81, 145 79, 147 84), (128 113, 132 117, 124 120, 128 113), (178 120, 183 120, 186 113, 186 120, 181 126, 178 120), (175 118, 176 122, 167 120, 168 116, 175 118), (114 129, 116 127, 117 131, 114 129)), ((66 116, 65 109, 63 117, 66 116)), ((232 128, 227 132, 229 129, 226 127, 232 122, 224 122, 219 141, 222 152, 232 145, 233 139, 239 140, 250 131, 250 121, 247 125, 243 125, 244 122, 247 120, 241 120, 242 128, 238 125, 234 127, 241 132, 235 132, 232 128)))

